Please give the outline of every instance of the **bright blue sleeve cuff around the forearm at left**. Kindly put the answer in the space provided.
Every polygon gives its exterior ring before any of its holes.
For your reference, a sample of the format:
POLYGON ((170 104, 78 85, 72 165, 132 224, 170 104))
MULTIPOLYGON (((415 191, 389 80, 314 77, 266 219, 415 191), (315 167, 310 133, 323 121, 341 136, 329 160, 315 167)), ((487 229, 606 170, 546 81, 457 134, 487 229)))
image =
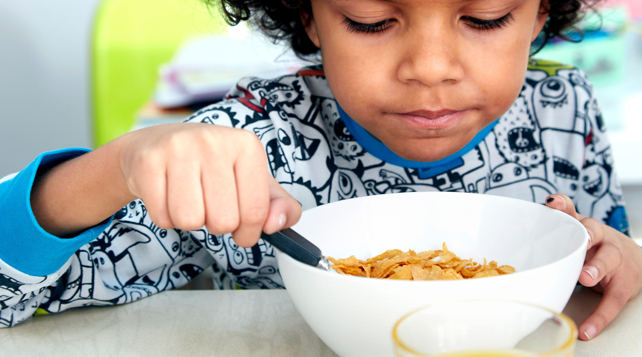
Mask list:
POLYGON ((96 239, 112 218, 73 238, 58 238, 44 231, 31 211, 31 186, 39 168, 90 152, 68 148, 41 153, 12 179, 0 183, 0 259, 29 275, 57 272, 78 248, 96 239))

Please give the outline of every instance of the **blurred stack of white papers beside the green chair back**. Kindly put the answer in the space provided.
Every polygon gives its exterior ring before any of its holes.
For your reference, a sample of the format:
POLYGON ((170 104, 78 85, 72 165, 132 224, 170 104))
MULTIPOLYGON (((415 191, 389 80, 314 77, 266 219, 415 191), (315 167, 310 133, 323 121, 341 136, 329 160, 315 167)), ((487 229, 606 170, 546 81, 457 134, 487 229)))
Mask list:
POLYGON ((160 67, 155 104, 176 108, 218 101, 243 76, 275 78, 306 65, 288 44, 273 44, 242 26, 224 35, 187 40, 171 62, 160 67))

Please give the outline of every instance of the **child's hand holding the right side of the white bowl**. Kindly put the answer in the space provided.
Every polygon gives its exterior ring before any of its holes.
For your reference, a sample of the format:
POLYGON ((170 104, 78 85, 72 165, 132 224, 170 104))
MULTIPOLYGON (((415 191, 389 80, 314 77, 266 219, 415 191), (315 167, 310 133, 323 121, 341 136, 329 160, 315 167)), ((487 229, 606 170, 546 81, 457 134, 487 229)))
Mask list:
POLYGON ((603 297, 578 327, 580 338, 587 341, 598 335, 642 289, 642 248, 612 227, 575 212, 575 205, 566 195, 548 196, 546 205, 573 216, 589 232, 591 240, 579 282, 603 293, 603 297))

